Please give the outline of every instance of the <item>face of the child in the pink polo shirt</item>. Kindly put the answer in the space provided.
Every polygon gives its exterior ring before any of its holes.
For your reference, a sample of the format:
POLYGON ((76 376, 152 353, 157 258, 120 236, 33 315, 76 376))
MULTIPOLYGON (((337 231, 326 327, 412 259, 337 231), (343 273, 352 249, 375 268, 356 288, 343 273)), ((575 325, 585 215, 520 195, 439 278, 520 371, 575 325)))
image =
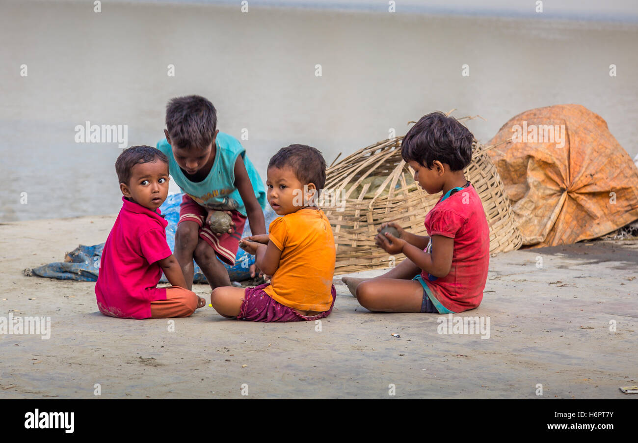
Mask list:
POLYGON ((168 165, 156 160, 137 163, 131 170, 128 184, 120 183, 122 195, 154 211, 168 195, 168 165))

